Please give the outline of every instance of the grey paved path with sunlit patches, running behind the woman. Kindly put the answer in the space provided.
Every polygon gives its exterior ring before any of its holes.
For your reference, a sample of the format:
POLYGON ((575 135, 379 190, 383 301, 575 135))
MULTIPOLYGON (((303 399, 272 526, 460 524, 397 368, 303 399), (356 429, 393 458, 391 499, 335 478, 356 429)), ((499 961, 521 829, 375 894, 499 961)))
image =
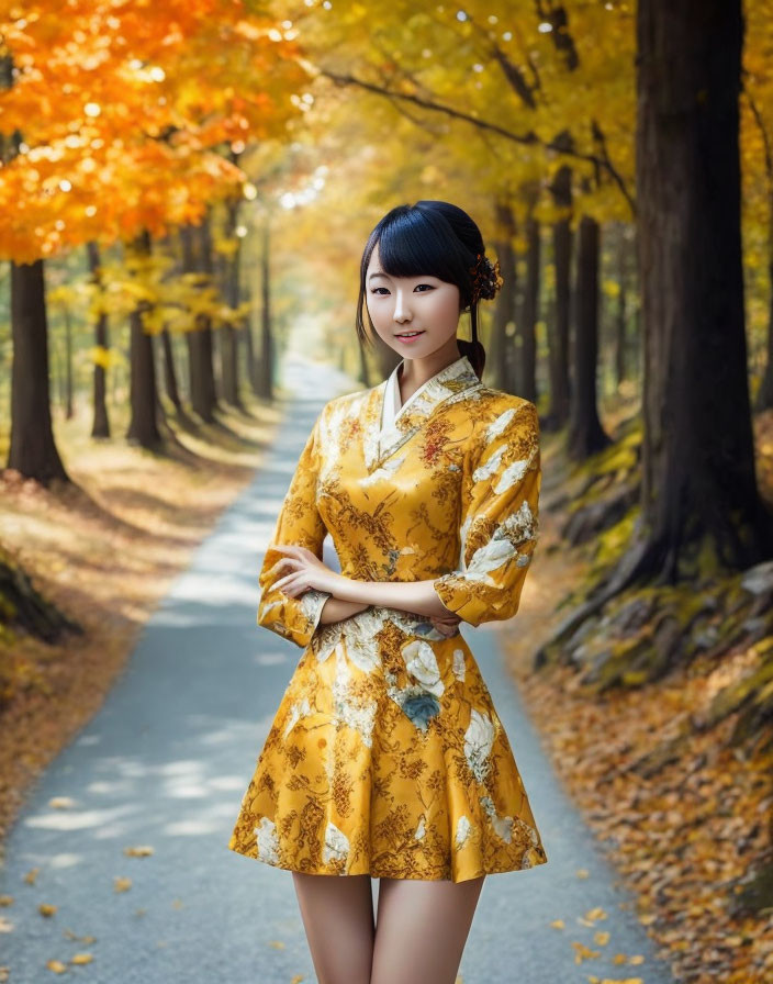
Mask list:
MULTIPOLYGON (((79 951, 63 980, 92 984, 314 984, 292 879, 226 847, 239 802, 300 649, 255 624, 260 545, 322 403, 347 380, 300 359, 292 403, 265 467, 176 581, 101 711, 52 763, 12 830, 0 909, 11 984, 56 980, 46 961, 79 951), (67 809, 54 796, 70 797, 67 809), (150 857, 124 848, 149 845, 150 857), (34 885, 24 874, 40 868, 34 885), (115 877, 132 880, 115 892, 115 877), (41 903, 58 906, 44 918, 41 903), (92 936, 85 943, 67 937, 92 936)), ((329 544, 329 540, 328 540, 329 544)), ((333 558, 328 558, 333 559, 333 558)), ((619 903, 615 873, 553 778, 489 626, 466 627, 515 751, 548 864, 488 879, 461 964, 463 984, 587 984, 587 975, 671 981, 619 903), (589 877, 576 876, 587 869, 589 877), (584 926, 601 907, 607 918, 584 926), (550 923, 563 919, 565 928, 550 923), (605 947, 594 946, 608 931, 605 947), (572 943, 602 957, 575 963, 572 943), (615 953, 645 954, 616 966, 615 953)), ((378 882, 373 883, 374 896, 378 882)), ((399 982, 395 982, 399 984, 399 982)))

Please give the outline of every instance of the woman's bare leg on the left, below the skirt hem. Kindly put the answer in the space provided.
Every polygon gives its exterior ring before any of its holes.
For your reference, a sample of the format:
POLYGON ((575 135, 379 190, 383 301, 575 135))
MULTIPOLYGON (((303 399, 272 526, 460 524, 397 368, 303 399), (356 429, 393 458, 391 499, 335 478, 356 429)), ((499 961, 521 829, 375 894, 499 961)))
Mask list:
POLYGON ((370 875, 292 876, 318 984, 369 984, 376 933, 370 875))

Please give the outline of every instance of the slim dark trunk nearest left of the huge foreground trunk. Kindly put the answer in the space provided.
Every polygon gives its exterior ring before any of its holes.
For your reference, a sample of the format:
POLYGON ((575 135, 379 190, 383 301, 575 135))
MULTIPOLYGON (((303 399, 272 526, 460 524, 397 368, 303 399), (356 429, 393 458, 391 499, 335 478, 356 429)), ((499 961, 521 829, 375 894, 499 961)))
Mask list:
POLYGON ((598 420, 598 223, 583 215, 578 237, 576 303, 572 339, 571 413, 567 450, 575 460, 609 444, 598 420))

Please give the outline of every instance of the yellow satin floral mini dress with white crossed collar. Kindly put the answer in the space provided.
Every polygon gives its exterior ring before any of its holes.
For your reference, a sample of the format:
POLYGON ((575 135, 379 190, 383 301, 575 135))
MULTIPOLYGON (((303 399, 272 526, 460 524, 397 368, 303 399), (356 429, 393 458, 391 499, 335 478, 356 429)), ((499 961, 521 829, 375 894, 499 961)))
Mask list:
MULTIPOLYGON (((396 372, 396 370, 395 370, 396 372)), ((434 579, 469 625, 517 612, 537 541, 534 403, 480 382, 462 356, 394 414, 395 373, 317 416, 273 541, 341 573, 434 579)), ((451 880, 548 859, 505 730, 459 633, 370 606, 321 624, 325 592, 290 597, 269 548, 258 624, 303 649, 228 847, 313 874, 451 880)))

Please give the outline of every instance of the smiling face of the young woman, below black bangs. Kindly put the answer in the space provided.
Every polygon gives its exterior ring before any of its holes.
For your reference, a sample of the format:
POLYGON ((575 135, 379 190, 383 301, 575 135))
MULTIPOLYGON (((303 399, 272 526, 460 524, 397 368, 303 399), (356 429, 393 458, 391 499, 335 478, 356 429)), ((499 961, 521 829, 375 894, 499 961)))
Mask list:
POLYGON ((459 288, 437 277, 390 277, 381 269, 378 243, 366 271, 370 320, 379 337, 399 355, 421 359, 451 338, 459 324, 459 288), (402 338, 405 333, 418 333, 402 338))

